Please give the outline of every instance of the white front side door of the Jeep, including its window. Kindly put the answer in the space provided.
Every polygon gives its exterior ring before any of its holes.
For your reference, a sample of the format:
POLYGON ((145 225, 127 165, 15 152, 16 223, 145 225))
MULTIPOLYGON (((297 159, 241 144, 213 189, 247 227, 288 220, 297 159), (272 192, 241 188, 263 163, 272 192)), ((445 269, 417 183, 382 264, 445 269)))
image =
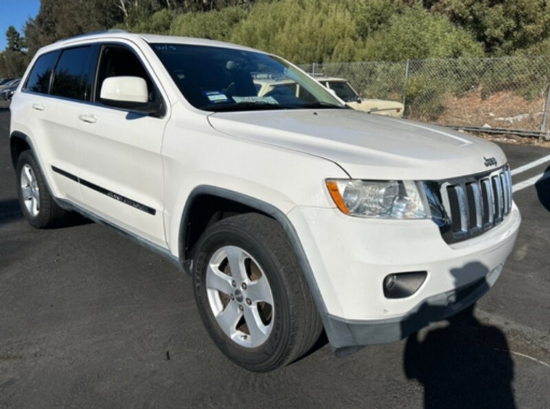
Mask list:
POLYGON ((139 49, 109 43, 100 48, 93 103, 78 112, 80 190, 85 208, 124 230, 166 247, 162 218, 162 157, 168 121, 166 98, 139 49), (121 109, 100 98, 105 78, 138 76, 148 86, 147 109, 121 109))

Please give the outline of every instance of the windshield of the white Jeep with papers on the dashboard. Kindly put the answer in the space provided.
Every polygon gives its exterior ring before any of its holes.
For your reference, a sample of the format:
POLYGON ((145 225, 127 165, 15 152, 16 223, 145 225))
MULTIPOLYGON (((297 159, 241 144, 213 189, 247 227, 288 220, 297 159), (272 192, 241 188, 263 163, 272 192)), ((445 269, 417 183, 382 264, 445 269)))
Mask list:
POLYGON ((344 108, 281 58, 223 47, 151 44, 190 104, 206 111, 344 108))

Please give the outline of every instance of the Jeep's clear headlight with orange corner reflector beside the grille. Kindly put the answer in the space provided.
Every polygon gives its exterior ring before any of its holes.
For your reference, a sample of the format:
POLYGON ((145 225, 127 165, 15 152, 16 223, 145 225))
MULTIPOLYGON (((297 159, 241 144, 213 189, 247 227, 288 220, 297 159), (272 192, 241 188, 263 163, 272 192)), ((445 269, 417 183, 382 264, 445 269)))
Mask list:
POLYGON ((375 219, 426 219, 423 195, 415 181, 327 179, 327 188, 345 214, 375 219))

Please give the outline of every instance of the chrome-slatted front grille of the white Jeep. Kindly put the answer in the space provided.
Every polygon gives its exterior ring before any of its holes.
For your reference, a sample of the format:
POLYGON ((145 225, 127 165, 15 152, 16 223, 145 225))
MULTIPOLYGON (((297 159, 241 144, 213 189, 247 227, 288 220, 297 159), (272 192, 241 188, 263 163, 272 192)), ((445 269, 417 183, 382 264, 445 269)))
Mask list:
POLYGON ((477 236, 502 222, 511 210, 508 166, 491 173, 425 184, 432 219, 447 243, 477 236))

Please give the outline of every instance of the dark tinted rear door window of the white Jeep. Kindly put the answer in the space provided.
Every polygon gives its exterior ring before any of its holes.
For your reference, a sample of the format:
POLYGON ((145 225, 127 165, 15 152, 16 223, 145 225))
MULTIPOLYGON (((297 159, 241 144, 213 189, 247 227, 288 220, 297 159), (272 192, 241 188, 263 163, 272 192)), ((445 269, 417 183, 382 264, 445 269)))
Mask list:
POLYGON ((91 46, 63 50, 54 71, 52 95, 74 100, 87 99, 91 46))

